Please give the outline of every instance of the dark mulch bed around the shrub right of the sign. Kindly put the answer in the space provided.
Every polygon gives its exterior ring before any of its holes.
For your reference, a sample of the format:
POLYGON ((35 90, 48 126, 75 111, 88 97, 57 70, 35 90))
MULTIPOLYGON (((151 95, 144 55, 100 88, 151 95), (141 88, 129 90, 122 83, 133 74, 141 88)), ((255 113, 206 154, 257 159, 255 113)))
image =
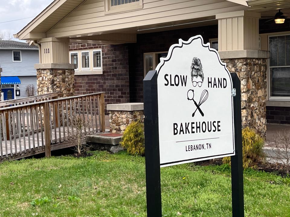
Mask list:
MULTIPOLYGON (((198 166, 210 166, 210 165, 222 165, 222 158, 213 159, 213 160, 205 160, 205 161, 199 161, 194 162, 195 165, 198 166)), ((287 176, 286 168, 284 165, 279 163, 263 163, 258 165, 259 171, 265 171, 270 173, 276 173, 277 175, 280 175, 282 177, 287 176)))

